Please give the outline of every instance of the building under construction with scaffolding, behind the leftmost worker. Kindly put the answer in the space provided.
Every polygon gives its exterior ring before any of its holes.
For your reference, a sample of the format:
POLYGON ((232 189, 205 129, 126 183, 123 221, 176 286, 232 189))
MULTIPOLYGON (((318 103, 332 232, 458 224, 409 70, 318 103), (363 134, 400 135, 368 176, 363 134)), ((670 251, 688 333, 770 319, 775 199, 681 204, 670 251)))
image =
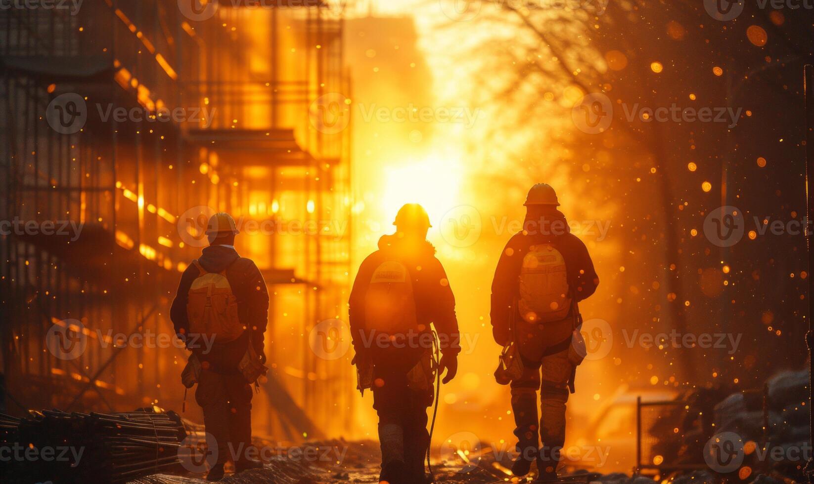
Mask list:
POLYGON ((206 216, 228 211, 271 295, 255 432, 348 429, 351 367, 309 347, 348 292, 342 28, 322 1, 0 11, 4 412, 180 411, 188 353, 161 335, 206 216), (65 328, 75 358, 46 344, 65 328))

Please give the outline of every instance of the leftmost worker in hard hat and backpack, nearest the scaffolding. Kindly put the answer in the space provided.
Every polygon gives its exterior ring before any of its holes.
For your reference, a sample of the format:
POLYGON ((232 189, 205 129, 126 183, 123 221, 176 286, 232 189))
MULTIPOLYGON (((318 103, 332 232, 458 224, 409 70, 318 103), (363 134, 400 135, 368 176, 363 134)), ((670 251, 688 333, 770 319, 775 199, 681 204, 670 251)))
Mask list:
POLYGON ((204 411, 207 433, 217 443, 208 481, 223 477, 230 456, 237 472, 262 467, 247 457, 252 445, 252 381, 247 381, 245 366, 247 361, 265 363, 269 293, 260 269, 234 250, 238 233, 228 213, 210 217, 209 246, 182 274, 170 309, 177 337, 199 362, 195 401, 204 411))

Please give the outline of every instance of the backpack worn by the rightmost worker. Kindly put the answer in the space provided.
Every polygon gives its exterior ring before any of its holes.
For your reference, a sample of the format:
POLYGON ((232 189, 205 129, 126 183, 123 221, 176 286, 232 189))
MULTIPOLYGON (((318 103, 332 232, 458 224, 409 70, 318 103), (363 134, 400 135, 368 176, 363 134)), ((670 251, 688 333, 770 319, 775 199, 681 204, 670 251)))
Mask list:
POLYGON ((520 268, 520 316, 528 323, 564 320, 571 311, 565 258, 551 244, 530 246, 520 268))

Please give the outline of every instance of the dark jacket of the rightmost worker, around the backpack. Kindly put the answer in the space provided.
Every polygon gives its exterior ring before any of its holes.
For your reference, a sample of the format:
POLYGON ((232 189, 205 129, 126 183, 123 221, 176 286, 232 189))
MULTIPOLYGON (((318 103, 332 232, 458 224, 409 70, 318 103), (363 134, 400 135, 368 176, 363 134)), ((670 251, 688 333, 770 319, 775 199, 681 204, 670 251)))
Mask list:
MULTIPOLYGON (((561 212, 554 211, 554 214, 539 220, 527 218, 523 228, 506 244, 492 281, 492 334, 495 342, 500 345, 509 342, 512 323, 522 320, 518 308, 514 307, 514 301, 519 299, 520 268, 529 246, 550 243, 562 254, 566 263, 568 286, 576 302, 589 297, 599 286, 599 277, 593 269, 588 249, 579 238, 571 234, 561 212)), ((569 322, 568 325, 570 324, 569 322)), ((562 328, 553 327, 553 333, 557 333, 552 336, 553 340, 562 341, 571 334, 571 328, 565 325, 562 328)))

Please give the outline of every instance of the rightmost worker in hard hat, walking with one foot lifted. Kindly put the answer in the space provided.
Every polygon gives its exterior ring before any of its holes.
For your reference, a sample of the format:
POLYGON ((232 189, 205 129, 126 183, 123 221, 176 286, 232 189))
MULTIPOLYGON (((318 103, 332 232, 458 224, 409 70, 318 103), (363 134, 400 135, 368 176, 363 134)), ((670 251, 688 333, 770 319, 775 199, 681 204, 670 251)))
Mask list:
POLYGON ((495 341, 516 348, 523 363, 510 382, 519 452, 511 470, 525 476, 536 460, 542 482, 557 478, 566 402, 581 362, 571 344, 580 324, 577 303, 593 294, 599 279, 587 248, 558 210, 551 186, 534 185, 525 206, 523 231, 510 239, 497 263, 491 319, 495 341))

